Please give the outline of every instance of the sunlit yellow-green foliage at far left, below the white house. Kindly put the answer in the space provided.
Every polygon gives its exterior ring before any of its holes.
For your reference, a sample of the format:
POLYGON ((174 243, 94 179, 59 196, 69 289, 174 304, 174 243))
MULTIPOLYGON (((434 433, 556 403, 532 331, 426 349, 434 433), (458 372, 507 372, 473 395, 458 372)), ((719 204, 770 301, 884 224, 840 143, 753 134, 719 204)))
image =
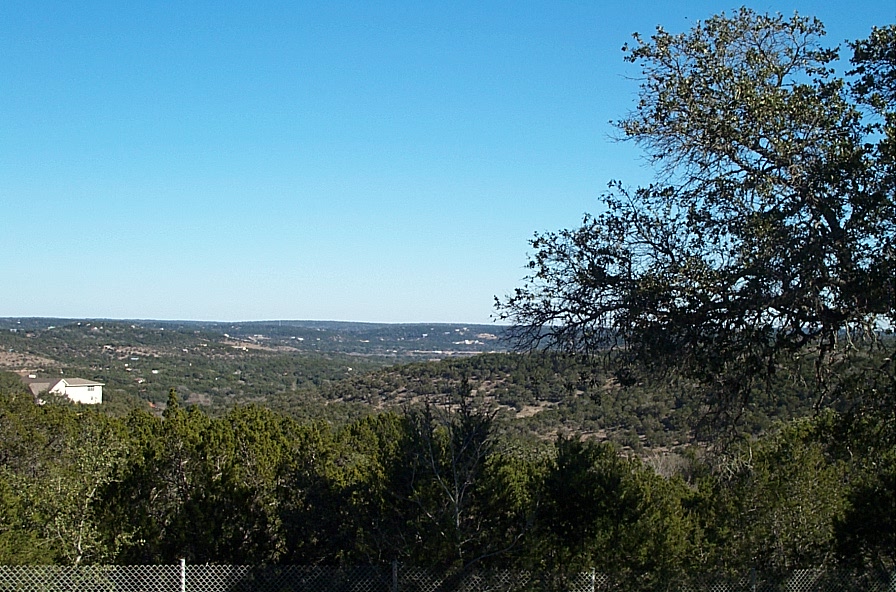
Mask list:
MULTIPOLYGON (((18 380, 18 377, 16 377, 18 380)), ((0 386, 0 494, 4 562, 66 564, 111 559, 96 501, 123 462, 119 426, 73 405, 35 405, 21 381, 0 386), (8 522, 7 522, 8 521, 8 522), (31 545, 30 548, 26 545, 31 545)))

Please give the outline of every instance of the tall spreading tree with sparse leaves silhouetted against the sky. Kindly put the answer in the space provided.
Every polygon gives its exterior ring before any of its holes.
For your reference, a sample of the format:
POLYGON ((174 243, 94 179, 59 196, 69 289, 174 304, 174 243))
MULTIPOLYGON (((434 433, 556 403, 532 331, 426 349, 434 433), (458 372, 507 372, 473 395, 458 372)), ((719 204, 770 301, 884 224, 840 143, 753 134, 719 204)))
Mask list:
POLYGON ((823 35, 746 8, 635 35, 640 99, 617 126, 657 180, 536 235, 497 302, 519 347, 615 352, 623 382, 673 371, 725 425, 784 367, 819 406, 867 380, 892 396, 893 356, 868 351, 896 321, 893 27, 854 46, 852 86, 823 35))

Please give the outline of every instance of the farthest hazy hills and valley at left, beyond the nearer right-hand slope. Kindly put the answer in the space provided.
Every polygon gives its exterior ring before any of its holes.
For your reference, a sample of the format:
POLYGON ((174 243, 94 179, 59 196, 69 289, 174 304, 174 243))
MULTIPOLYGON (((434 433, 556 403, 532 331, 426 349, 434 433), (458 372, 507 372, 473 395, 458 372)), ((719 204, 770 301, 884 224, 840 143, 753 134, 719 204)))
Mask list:
MULTIPOLYGON (((226 408, 413 360, 505 349, 499 326, 0 319, 0 369, 106 384, 110 406, 226 408)), ((313 393, 308 395, 313 397, 313 393)), ((298 397, 301 399, 302 397, 298 397)))

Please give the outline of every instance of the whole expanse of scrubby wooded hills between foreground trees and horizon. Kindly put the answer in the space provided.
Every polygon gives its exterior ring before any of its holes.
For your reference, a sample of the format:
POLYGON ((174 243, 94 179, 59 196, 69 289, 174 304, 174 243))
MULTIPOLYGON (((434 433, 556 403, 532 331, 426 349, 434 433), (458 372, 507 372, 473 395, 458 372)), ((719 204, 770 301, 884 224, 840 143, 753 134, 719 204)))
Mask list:
MULTIPOLYGON (((237 404, 259 403, 297 418, 340 423, 372 411, 441 403, 445 393, 465 381, 475 398, 499 411, 506 429, 548 439, 579 434, 641 452, 691 441, 703 418, 700 407, 674 389, 663 384, 623 388, 601 364, 582 356, 473 355, 473 346, 461 343, 462 350, 427 350, 427 357, 442 359, 414 361, 423 351, 419 340, 430 338, 418 326, 330 323, 326 330, 299 330, 279 323, 4 323, 0 368, 101 381, 106 385, 102 409, 117 415, 132 408, 161 413, 168 390, 175 388, 184 404, 200 405, 213 415, 237 404), (268 333, 257 332, 262 329, 268 333), (388 344, 383 346, 387 354, 370 353, 369 342, 378 339, 388 344), (304 346, 307 342, 311 345, 304 346)), ((486 335, 483 327, 427 329, 434 331, 436 341, 425 347, 486 335)), ((486 341, 489 348, 506 347, 496 339, 486 341)), ((744 418, 740 430, 759 434, 775 420, 811 411, 806 389, 782 384, 774 400, 744 418)))

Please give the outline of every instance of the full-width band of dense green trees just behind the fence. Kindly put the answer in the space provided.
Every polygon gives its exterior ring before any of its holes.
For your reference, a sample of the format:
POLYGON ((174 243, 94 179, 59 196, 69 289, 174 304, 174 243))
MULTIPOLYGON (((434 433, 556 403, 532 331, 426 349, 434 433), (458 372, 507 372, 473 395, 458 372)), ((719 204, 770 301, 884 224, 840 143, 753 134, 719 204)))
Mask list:
POLYGON ((878 416, 783 424, 661 476, 609 443, 517 439, 463 381, 439 404, 340 428, 254 405, 212 417, 174 391, 162 417, 113 418, 0 384, 4 563, 399 560, 537 566, 558 586, 595 568, 644 589, 893 565, 893 456, 867 454, 892 451, 878 416))

